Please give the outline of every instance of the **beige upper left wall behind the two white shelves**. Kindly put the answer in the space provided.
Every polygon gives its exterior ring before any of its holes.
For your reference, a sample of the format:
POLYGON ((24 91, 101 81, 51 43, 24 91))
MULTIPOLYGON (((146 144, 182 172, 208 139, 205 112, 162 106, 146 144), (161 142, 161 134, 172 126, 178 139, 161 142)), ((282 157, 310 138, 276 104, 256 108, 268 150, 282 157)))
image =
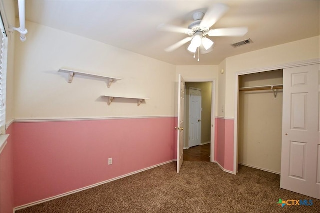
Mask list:
POLYGON ((174 116, 175 66, 94 40, 26 22, 27 41, 16 36, 15 118, 174 116), (67 67, 122 78, 111 87, 99 78, 58 72, 67 67), (116 99, 100 95, 150 98, 116 99))

